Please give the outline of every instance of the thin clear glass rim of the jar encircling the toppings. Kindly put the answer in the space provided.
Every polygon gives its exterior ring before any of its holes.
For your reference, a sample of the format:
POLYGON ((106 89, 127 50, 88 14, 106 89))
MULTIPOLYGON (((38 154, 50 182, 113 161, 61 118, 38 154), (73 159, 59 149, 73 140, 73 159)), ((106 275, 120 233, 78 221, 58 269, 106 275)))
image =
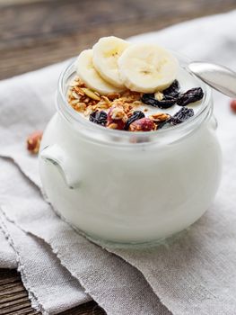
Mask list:
MULTIPOLYGON (((188 72, 187 65, 190 62, 190 60, 187 57, 184 57, 183 55, 180 55, 179 53, 172 51, 172 53, 181 61, 183 64, 182 68, 188 72)), ((133 137, 135 134, 135 139, 137 139, 137 143, 139 142, 138 139, 144 139, 144 137, 165 137, 165 135, 170 135, 172 133, 175 133, 177 131, 184 131, 188 129, 189 127, 192 127, 192 130, 194 130, 193 126, 196 121, 199 121, 199 119, 202 118, 202 121, 204 121, 204 118, 207 117, 208 113, 212 111, 211 106, 211 100, 212 100, 212 89, 209 85, 205 85, 203 81, 200 81, 197 76, 194 76, 196 80, 199 82, 199 85, 204 90, 204 98, 202 101, 202 107, 201 109, 192 117, 190 117, 187 121, 183 121, 180 124, 177 124, 175 126, 171 126, 170 128, 161 129, 161 130, 152 130, 152 131, 138 131, 138 132, 128 132, 126 130, 112 130, 108 128, 104 128, 103 126, 93 123, 92 121, 89 121, 87 119, 84 119, 83 116, 76 112, 74 108, 67 102, 66 99, 66 81, 68 79, 68 76, 72 76, 75 72, 75 58, 67 65, 67 67, 62 71, 61 75, 58 79, 58 85, 57 85, 57 110, 62 114, 64 118, 66 118, 66 121, 69 121, 73 123, 75 129, 76 126, 80 125, 86 130, 93 130, 96 133, 101 133, 101 135, 109 136, 109 137, 118 137, 118 138, 124 138, 124 139, 130 139, 130 137, 133 137), (66 79, 66 80, 65 80, 66 79)), ((188 72, 188 74, 190 74, 188 72)), ((193 76, 192 74, 190 74, 193 76)))

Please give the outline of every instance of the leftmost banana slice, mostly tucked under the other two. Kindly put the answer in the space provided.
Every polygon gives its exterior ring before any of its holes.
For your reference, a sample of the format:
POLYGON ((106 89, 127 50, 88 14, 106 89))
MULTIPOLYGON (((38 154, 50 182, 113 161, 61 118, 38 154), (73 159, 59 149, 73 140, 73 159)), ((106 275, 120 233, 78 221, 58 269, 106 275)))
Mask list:
POLYGON ((77 75, 82 81, 90 87, 92 90, 99 92, 100 94, 118 93, 121 89, 109 85, 108 82, 104 81, 99 75, 95 67, 92 64, 92 49, 86 49, 81 52, 77 58, 77 75))

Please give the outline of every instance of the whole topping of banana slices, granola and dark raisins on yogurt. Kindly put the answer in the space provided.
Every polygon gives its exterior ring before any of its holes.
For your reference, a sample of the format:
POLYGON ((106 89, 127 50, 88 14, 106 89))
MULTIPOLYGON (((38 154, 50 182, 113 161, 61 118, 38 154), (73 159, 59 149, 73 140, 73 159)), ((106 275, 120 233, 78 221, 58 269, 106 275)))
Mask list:
POLYGON ((168 128, 192 117, 187 105, 204 97, 201 87, 181 90, 178 69, 177 58, 158 45, 102 38, 79 55, 67 100, 85 119, 109 129, 168 128))

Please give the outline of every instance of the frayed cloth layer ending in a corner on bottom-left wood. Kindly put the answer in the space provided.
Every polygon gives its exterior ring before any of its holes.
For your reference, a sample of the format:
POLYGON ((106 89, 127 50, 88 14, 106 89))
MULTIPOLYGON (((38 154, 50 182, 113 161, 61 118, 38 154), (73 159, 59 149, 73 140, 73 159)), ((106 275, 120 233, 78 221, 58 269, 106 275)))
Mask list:
POLYGON ((92 300, 79 282, 60 265, 48 244, 25 234, 6 220, 1 210, 0 223, 13 247, 17 269, 35 310, 45 315, 57 314, 92 300))

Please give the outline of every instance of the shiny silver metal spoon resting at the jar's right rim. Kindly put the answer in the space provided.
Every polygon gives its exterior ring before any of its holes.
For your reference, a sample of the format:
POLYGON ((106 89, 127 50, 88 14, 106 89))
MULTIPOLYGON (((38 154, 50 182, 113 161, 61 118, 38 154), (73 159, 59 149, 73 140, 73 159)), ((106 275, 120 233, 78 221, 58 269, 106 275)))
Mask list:
POLYGON ((194 61, 188 64, 188 71, 199 77, 215 90, 236 98, 236 72, 214 63, 194 61))

